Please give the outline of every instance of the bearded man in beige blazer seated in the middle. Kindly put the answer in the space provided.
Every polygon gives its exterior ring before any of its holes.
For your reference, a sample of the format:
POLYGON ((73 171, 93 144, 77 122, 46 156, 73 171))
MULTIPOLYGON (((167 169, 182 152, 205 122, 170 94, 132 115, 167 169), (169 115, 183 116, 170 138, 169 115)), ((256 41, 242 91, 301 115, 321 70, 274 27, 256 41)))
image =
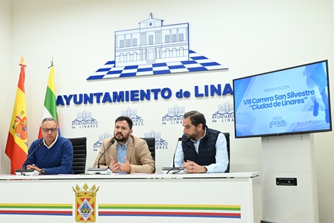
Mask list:
POLYGON ((116 119, 114 137, 102 142, 95 168, 98 162, 100 167, 109 167, 112 173, 154 173, 156 170, 149 146, 144 139, 132 136, 132 121, 127 116, 116 119))

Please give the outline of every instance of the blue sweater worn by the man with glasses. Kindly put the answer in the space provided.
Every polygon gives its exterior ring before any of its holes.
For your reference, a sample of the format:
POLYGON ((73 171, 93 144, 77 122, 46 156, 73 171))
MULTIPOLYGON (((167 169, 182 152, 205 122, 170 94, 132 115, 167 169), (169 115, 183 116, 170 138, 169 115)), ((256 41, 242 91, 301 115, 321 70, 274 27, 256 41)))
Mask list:
POLYGON ((33 141, 28 150, 28 156, 35 148, 37 149, 26 163, 23 163, 23 169, 26 168, 26 165, 35 164, 38 168, 44 168, 45 174, 48 175, 74 174, 72 168, 73 148, 72 143, 67 138, 58 136, 51 148, 47 148, 44 144, 38 146, 41 142, 43 142, 43 138, 33 141))

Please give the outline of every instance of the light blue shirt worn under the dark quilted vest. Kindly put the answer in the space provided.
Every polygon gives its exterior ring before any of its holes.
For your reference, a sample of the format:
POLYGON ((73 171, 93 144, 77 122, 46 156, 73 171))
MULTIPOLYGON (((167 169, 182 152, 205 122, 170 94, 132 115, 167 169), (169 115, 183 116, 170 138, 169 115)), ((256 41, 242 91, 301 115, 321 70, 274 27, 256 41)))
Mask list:
MULTIPOLYGON (((200 146, 200 140, 202 138, 199 138, 198 141, 191 140, 194 143, 195 151, 197 153, 198 153, 198 146, 200 146)), ((227 169, 229 161, 227 155, 227 141, 224 134, 220 133, 218 135, 215 146, 216 146, 216 156, 215 156, 216 163, 205 165, 205 168, 207 168, 208 170, 206 173, 224 173, 225 170, 227 169)), ((181 141, 178 141, 178 147, 176 148, 176 153, 175 153, 175 166, 177 167, 182 166, 183 161, 184 161, 184 154, 182 149, 182 143, 181 141)))

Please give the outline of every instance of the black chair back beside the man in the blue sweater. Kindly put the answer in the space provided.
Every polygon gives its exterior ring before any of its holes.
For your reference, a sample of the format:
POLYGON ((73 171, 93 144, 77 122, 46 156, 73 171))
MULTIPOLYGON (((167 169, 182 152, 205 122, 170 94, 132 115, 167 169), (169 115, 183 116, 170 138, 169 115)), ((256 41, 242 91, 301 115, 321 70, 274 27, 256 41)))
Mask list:
POLYGON ((87 157, 87 138, 68 138, 73 146, 73 170, 74 174, 85 173, 87 157))

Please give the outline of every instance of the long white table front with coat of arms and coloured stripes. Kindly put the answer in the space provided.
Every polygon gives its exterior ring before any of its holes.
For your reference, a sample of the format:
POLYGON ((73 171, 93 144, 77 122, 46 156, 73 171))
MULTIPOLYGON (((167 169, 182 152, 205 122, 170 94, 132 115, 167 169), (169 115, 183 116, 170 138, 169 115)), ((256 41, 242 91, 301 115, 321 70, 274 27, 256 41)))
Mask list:
POLYGON ((259 173, 0 175, 0 188, 1 222, 262 219, 259 173))

